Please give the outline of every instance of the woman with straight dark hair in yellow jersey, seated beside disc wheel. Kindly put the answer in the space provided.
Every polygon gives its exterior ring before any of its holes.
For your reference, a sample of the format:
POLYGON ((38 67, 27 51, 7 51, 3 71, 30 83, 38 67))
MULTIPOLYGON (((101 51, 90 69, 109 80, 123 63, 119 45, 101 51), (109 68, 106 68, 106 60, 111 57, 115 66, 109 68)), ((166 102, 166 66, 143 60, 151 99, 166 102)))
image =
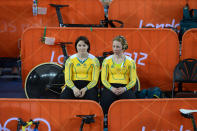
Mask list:
POLYGON ((100 64, 98 59, 89 53, 90 42, 80 36, 75 42, 76 54, 69 57, 65 65, 65 88, 61 99, 88 99, 98 101, 96 87, 100 64))

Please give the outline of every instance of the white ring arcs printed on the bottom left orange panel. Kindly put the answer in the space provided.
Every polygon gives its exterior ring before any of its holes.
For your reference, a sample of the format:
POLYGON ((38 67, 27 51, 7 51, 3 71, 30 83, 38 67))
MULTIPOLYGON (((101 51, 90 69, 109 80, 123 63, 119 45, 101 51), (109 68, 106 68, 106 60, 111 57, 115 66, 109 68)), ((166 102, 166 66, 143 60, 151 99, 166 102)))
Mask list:
MULTIPOLYGON (((17 117, 12 117, 12 118, 9 118, 8 120, 6 120, 5 121, 5 123, 2 125, 1 123, 0 123, 0 131, 11 131, 10 129, 8 129, 8 123, 10 123, 11 121, 18 121, 19 120, 19 118, 17 118, 17 117)), ((47 126, 47 128, 48 128, 48 130, 47 131, 51 131, 51 126, 50 126, 50 124, 49 124, 49 122, 47 121, 47 120, 45 120, 45 119, 43 119, 43 118, 35 118, 35 119, 33 119, 33 121, 39 121, 39 122, 41 122, 41 123, 44 123, 44 124, 46 124, 46 126, 47 126)), ((32 129, 30 126, 28 126, 26 129, 25 129, 25 131, 33 131, 34 129, 32 129)))

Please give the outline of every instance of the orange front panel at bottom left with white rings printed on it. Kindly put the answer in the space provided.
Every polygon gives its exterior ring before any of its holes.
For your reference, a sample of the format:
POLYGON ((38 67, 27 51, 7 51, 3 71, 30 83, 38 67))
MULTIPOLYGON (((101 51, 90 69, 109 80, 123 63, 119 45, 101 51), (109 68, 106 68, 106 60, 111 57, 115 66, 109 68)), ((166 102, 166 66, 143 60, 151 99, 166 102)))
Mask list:
POLYGON ((77 131, 81 118, 76 115, 93 114, 95 122, 90 125, 84 124, 84 130, 103 130, 103 112, 100 105, 94 101, 0 99, 0 102, 0 125, 9 130, 17 129, 17 121, 11 119, 22 118, 25 122, 30 119, 41 119, 38 129, 42 131, 77 131))

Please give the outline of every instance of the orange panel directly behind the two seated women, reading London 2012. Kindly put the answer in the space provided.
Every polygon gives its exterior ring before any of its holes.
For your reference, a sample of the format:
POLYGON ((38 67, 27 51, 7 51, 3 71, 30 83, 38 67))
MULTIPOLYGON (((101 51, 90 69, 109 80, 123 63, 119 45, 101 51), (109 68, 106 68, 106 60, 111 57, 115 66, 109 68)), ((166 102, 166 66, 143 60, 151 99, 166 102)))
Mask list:
MULTIPOLYGON (((21 60, 23 82, 30 70, 44 62, 63 63, 60 46, 46 45, 40 41, 44 28, 30 28, 22 37, 21 60)), ((179 60, 179 43, 175 32, 168 29, 104 29, 104 28, 47 28, 46 36, 54 37, 56 42, 73 42, 67 46, 69 55, 75 53, 74 43, 78 36, 90 40, 95 56, 112 50, 112 40, 123 35, 128 41, 126 55, 131 56, 137 65, 141 87, 158 86, 162 90, 172 89, 172 75, 179 60)))

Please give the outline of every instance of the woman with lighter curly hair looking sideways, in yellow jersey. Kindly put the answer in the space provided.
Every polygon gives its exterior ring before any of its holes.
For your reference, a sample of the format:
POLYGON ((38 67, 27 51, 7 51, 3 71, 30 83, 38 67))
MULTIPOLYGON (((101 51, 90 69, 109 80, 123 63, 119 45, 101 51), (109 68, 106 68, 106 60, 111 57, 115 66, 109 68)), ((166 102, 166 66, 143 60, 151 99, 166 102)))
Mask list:
POLYGON ((101 81, 104 85, 101 92, 101 106, 104 114, 108 113, 110 105, 119 99, 134 99, 131 90, 136 84, 137 74, 135 61, 124 55, 128 48, 126 39, 117 36, 113 39, 113 55, 104 59, 101 81))

